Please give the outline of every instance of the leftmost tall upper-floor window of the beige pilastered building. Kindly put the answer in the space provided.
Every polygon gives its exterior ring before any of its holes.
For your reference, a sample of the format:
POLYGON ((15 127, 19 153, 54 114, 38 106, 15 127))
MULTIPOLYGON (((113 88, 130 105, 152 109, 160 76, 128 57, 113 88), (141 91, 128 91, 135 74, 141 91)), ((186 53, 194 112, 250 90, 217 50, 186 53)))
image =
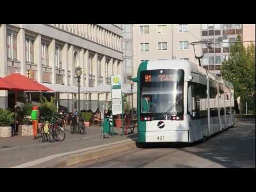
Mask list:
POLYGON ((17 60, 17 36, 13 33, 7 34, 7 58, 17 60))

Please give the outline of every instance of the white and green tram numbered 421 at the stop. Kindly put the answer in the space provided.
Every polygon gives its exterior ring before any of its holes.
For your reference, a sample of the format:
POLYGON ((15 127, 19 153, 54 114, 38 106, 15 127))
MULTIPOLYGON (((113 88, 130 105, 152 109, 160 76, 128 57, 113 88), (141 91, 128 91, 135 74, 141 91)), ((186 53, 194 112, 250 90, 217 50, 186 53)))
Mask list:
POLYGON ((204 140, 234 125, 234 87, 187 60, 140 63, 138 143, 204 140))

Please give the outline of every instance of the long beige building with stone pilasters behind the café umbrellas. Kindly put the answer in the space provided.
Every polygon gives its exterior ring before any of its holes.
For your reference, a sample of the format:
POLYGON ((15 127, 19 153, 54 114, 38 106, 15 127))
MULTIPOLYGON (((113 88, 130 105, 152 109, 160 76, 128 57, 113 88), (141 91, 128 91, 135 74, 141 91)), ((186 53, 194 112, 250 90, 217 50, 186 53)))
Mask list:
MULTIPOLYGON (((81 86, 110 84, 111 75, 123 74, 122 36, 119 24, 0 24, 0 76, 18 71, 40 83, 77 85, 79 66, 81 86)), ((38 102, 41 96, 34 92, 29 99, 38 102)), ((76 96, 60 94, 60 105, 71 111, 76 96)), ((18 93, 18 104, 28 97, 18 93)), ((98 97, 110 101, 110 94, 81 94, 81 109, 94 111, 98 97)), ((11 92, 0 91, 0 107, 13 101, 11 92)))

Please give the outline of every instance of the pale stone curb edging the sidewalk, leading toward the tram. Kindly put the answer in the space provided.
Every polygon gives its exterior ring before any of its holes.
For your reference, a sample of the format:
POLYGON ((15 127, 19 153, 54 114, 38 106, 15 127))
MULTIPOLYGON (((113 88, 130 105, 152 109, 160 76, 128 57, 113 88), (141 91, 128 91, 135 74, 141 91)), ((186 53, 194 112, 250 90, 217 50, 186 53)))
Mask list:
POLYGON ((111 146, 102 147, 99 149, 92 149, 83 153, 62 157, 59 160, 59 163, 55 163, 51 166, 47 166, 47 168, 69 167, 79 163, 85 163, 88 161, 92 161, 94 159, 99 159, 99 158, 107 157, 117 153, 121 153, 134 148, 137 148, 136 142, 134 140, 125 141, 123 143, 113 144, 111 146))

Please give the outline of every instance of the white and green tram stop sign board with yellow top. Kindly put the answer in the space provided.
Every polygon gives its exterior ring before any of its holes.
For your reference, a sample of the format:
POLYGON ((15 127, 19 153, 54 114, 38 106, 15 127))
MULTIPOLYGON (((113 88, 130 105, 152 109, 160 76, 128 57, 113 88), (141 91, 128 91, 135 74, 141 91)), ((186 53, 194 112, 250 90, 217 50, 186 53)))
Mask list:
POLYGON ((122 109, 122 78, 121 75, 111 75, 112 114, 123 113, 122 109))

